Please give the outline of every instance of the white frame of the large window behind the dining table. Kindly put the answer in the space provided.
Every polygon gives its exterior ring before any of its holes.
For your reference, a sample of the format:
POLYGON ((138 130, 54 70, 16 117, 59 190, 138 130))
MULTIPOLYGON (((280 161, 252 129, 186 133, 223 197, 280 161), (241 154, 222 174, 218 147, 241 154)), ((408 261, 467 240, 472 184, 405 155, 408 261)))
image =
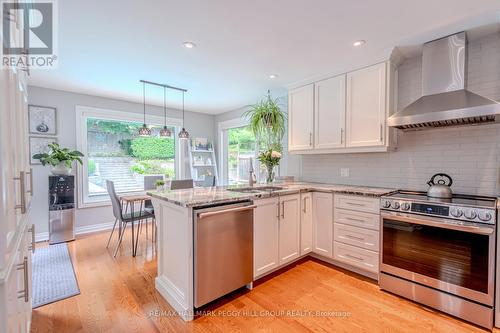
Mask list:
MULTIPOLYGON (((84 155, 83 165, 77 163, 76 167, 76 180, 77 180, 77 193, 78 193, 78 208, 101 207, 111 205, 108 195, 99 195, 95 197, 89 196, 88 192, 88 154, 87 154, 87 119, 98 118, 116 121, 131 121, 142 123, 144 115, 141 113, 117 111, 111 109, 102 109, 90 106, 75 106, 76 112, 76 149, 81 151, 84 155)), ((148 124, 163 126, 164 118, 155 115, 146 115, 148 124)), ((177 135, 180 127, 182 126, 182 119, 167 118, 168 126, 175 127, 173 135, 177 135)), ((179 143, 180 140, 175 140, 175 175, 179 178, 183 174, 184 154, 182 154, 179 143)), ((126 192, 127 194, 139 194, 138 192, 126 192)))

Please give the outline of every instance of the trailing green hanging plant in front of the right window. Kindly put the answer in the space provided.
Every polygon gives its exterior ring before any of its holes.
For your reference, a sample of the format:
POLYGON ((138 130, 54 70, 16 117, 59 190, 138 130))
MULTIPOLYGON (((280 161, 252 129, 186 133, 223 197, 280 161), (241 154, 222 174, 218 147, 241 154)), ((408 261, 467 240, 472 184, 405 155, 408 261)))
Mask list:
POLYGON ((267 144, 266 149, 281 151, 281 141, 285 135, 286 114, 281 111, 278 99, 271 98, 269 90, 267 97, 252 105, 243 116, 249 120, 250 129, 255 137, 267 144))

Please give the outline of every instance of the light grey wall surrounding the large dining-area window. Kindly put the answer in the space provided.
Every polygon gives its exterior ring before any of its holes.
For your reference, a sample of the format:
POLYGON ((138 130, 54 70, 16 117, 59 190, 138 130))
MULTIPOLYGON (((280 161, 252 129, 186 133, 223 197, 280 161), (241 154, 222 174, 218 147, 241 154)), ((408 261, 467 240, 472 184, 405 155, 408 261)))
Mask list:
MULTIPOLYGON (((57 131, 58 141, 62 146, 76 148, 76 116, 75 106, 84 105, 117 111, 142 113, 142 104, 131 103, 121 100, 70 93, 60 90, 45 89, 30 86, 28 91, 29 104, 50 106, 57 108, 57 131)), ((147 106, 147 113, 158 116, 163 115, 163 109, 157 106, 147 106)), ((179 110, 168 110, 168 116, 182 118, 179 110)), ((186 129, 195 137, 206 137, 213 140, 214 117, 211 115, 186 112, 186 129)), ((30 211, 32 221, 36 224, 39 238, 46 236, 48 232, 48 167, 40 165, 33 166, 34 196, 30 211)), ((77 231, 91 231, 95 225, 109 224, 114 221, 111 206, 77 209, 76 228, 77 231)), ((99 226, 98 226, 99 227, 99 226)), ((101 225, 101 227, 103 227, 101 225)))

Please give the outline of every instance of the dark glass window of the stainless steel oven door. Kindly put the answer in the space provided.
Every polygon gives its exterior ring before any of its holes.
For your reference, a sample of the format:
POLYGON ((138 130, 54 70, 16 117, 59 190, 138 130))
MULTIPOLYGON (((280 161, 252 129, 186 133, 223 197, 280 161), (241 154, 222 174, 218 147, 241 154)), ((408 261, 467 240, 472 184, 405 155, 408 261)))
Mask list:
POLYGON ((488 236, 384 219, 384 264, 488 292, 488 236))

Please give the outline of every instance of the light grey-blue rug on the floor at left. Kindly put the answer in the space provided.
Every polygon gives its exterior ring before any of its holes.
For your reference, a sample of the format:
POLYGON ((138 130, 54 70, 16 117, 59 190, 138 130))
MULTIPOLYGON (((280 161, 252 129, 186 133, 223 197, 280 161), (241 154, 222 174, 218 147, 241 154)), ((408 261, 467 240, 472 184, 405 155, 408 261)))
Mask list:
POLYGON ((36 249, 33 255, 33 308, 80 294, 66 243, 36 249))

